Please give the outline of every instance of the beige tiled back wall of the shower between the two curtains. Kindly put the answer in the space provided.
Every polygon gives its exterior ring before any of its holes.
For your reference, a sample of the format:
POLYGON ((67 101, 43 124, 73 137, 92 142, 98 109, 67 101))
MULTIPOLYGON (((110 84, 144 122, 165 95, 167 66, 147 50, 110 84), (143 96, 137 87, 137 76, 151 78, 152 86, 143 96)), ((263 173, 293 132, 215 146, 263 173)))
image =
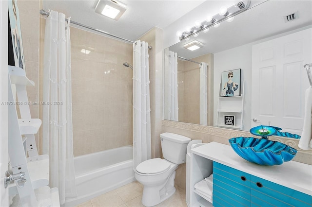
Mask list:
POLYGON ((74 156, 132 145, 132 44, 71 27, 71 52, 74 156))

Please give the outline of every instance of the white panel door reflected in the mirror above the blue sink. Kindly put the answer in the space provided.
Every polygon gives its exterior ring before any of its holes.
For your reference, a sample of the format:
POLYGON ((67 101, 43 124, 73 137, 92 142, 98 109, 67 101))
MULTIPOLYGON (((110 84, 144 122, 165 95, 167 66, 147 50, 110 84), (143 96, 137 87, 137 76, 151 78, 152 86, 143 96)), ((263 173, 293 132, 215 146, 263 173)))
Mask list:
POLYGON ((312 29, 259 43, 252 50, 252 127, 263 124, 301 135, 305 90, 303 65, 312 63, 312 29))

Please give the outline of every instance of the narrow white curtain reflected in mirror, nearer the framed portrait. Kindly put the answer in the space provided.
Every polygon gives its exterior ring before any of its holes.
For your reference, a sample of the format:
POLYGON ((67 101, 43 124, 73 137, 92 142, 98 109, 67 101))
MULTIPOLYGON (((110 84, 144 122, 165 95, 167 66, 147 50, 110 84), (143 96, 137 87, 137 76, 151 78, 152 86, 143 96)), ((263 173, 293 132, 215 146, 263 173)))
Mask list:
POLYGON ((200 63, 199 124, 207 125, 207 63, 200 63))

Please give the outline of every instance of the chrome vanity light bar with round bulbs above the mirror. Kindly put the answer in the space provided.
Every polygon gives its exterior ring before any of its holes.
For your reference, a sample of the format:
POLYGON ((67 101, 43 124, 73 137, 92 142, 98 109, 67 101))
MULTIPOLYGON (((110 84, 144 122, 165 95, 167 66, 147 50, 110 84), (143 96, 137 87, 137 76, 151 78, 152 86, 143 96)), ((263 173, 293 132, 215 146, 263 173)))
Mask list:
POLYGON ((195 26, 188 28, 185 32, 178 31, 180 41, 190 38, 191 36, 198 35, 201 31, 208 31, 208 28, 219 25, 222 21, 228 20, 231 22, 233 17, 239 13, 246 11, 250 6, 251 0, 239 1, 237 4, 230 6, 229 8, 221 7, 218 14, 215 16, 208 16, 203 22, 196 21, 195 26), (245 3, 244 3, 245 2, 245 3))

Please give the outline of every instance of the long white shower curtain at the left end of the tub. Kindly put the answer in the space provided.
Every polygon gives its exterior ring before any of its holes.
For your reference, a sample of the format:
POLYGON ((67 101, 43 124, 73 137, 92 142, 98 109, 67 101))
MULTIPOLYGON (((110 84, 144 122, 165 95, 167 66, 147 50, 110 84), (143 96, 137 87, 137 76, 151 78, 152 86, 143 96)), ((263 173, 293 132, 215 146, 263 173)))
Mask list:
POLYGON ((59 188, 60 204, 76 197, 69 20, 49 11, 44 36, 42 152, 49 155, 49 185, 59 188))

